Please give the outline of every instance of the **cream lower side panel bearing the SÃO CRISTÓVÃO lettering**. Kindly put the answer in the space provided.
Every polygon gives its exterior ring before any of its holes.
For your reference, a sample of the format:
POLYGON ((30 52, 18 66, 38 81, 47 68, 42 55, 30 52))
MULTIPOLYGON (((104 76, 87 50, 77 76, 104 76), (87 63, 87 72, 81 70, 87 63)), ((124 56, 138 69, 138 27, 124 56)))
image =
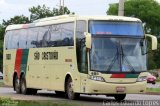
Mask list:
POLYGON ((65 77, 70 73, 75 91, 80 91, 74 47, 32 48, 28 58, 27 87, 64 91, 65 77))

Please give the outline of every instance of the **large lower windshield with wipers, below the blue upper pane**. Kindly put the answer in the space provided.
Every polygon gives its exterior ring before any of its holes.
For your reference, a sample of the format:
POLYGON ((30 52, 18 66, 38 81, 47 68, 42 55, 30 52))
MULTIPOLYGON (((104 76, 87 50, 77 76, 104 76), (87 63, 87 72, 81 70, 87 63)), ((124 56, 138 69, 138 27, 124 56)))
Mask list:
POLYGON ((103 72, 146 71, 146 55, 142 55, 142 39, 92 38, 91 70, 103 72))

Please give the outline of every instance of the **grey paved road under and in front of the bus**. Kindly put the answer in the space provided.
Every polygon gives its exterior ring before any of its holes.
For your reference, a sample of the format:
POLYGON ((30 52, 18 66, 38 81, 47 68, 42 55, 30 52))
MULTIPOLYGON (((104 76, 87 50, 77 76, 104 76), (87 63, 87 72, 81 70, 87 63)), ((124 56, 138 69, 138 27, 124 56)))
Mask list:
MULTIPOLYGON (((84 105, 84 106, 102 106, 102 105, 108 105, 114 101, 114 98, 112 97, 106 97, 104 95, 96 96, 88 96, 88 95, 81 95, 79 100, 68 100, 64 97, 57 96, 53 91, 45 91, 41 90, 38 91, 37 95, 21 95, 16 94, 13 91, 13 88, 6 88, 6 87, 0 87, 0 97, 10 97, 15 100, 51 100, 53 102, 69 102, 73 104, 78 105, 84 105)), ((139 100, 142 100, 141 102, 146 103, 146 105, 143 106, 159 106, 160 102, 160 96, 159 95, 146 95, 146 94, 128 94, 126 96, 125 102, 128 103, 135 103, 139 100), (145 102, 144 102, 145 101, 145 102), (158 105, 148 105, 148 101, 156 102, 158 101, 158 105)), ((115 104, 113 104, 115 106, 115 104)), ((124 104, 123 104, 124 105, 124 104)), ((127 105, 128 106, 128 105, 127 105)))

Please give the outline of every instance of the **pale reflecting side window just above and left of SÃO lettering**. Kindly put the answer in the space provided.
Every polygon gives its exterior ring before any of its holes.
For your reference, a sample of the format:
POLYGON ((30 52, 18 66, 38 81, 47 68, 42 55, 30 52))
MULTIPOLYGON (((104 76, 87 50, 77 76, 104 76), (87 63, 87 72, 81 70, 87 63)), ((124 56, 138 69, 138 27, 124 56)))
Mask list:
POLYGON ((37 42, 38 27, 28 29, 27 48, 35 48, 39 44, 37 42))

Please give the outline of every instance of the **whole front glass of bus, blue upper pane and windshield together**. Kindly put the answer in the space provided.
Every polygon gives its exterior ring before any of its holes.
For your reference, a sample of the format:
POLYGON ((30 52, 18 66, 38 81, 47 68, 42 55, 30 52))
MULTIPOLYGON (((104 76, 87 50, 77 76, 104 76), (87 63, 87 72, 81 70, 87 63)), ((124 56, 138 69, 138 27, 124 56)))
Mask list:
POLYGON ((140 44, 144 32, 140 22, 90 21, 89 32, 92 35, 91 70, 146 71, 146 55, 142 55, 140 44))

